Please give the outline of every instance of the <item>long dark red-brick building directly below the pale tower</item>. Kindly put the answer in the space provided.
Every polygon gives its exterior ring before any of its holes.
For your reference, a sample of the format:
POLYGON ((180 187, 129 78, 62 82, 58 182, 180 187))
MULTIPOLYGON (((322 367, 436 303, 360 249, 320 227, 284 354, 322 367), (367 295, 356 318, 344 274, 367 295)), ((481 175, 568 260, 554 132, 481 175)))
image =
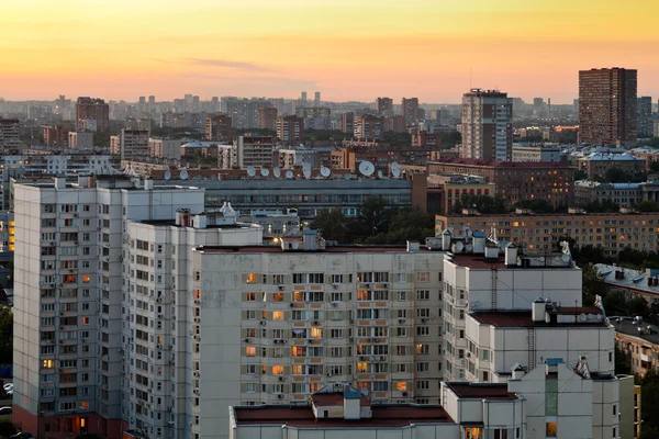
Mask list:
POLYGON ((557 162, 485 161, 446 158, 429 161, 428 176, 461 173, 480 176, 494 183, 496 194, 506 204, 523 200, 545 200, 555 207, 572 205, 574 199, 574 168, 557 162))

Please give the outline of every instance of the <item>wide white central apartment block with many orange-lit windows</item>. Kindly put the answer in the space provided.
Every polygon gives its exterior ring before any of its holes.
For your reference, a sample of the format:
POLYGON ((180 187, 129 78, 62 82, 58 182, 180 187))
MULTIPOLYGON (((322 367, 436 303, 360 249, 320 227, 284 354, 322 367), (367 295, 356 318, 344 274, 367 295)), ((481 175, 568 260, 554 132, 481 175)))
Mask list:
POLYGON ((308 230, 280 248, 196 251, 194 438, 226 437, 231 405, 303 402, 328 380, 438 401, 444 255, 323 246, 308 230))

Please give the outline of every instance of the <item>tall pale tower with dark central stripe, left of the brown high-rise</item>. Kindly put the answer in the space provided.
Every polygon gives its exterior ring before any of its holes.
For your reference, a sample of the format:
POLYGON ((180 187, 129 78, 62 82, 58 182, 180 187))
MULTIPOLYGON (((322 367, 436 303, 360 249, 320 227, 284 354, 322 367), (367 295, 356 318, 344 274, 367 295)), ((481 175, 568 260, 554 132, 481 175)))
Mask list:
POLYGON ((472 89, 462 97, 462 158, 511 161, 513 100, 498 90, 472 89))

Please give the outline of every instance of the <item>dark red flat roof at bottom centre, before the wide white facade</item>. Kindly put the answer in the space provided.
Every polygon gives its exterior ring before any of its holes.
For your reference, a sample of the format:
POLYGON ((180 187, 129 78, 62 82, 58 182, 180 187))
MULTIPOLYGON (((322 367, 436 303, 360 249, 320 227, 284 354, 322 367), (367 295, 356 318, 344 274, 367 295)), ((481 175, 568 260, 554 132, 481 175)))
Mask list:
MULTIPOLYGON (((340 396, 340 395, 339 395, 340 396)), ((343 398, 343 396, 342 396, 343 398)), ((343 404, 343 403, 342 403, 343 404)), ((440 406, 415 404, 382 404, 371 406, 372 417, 361 419, 320 418, 310 405, 265 405, 234 407, 236 424, 286 425, 295 428, 394 428, 412 424, 453 424, 440 406)))

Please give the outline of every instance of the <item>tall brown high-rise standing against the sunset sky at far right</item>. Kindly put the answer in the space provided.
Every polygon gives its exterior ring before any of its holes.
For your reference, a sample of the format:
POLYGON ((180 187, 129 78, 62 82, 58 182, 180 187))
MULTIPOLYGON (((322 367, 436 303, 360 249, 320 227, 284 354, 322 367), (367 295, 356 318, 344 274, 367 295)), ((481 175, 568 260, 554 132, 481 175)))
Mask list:
POLYGON ((579 71, 579 142, 633 146, 637 140, 637 71, 603 68, 579 71))

